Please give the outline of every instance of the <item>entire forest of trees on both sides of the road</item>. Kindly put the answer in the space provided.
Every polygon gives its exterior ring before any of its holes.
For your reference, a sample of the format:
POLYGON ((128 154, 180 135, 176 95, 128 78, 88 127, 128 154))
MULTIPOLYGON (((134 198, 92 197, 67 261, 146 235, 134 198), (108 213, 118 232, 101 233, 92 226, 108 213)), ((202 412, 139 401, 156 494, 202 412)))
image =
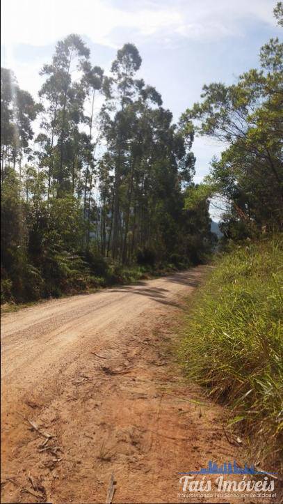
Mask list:
MULTIPOLYGON (((274 10, 282 25, 282 3, 274 10)), ((60 40, 38 100, 1 69, 1 301, 36 300, 209 257, 209 201, 223 201, 224 240, 282 227, 282 43, 235 84, 205 85, 177 123, 137 78, 135 45, 111 72, 80 36, 60 40), (35 133, 36 131, 36 133, 35 133), (195 134, 222 142, 195 185, 195 134)))

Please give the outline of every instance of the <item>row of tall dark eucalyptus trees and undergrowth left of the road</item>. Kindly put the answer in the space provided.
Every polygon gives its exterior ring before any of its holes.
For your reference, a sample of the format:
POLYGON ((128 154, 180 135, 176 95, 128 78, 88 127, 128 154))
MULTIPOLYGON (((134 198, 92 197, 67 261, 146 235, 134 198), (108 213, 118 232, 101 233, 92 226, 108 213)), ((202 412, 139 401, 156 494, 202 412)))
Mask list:
POLYGON ((127 43, 105 75, 72 34, 42 68, 38 102, 1 69, 4 301, 119 281, 133 264, 184 267, 208 252, 207 199, 184 209, 193 131, 172 122, 137 78, 140 65, 127 43))

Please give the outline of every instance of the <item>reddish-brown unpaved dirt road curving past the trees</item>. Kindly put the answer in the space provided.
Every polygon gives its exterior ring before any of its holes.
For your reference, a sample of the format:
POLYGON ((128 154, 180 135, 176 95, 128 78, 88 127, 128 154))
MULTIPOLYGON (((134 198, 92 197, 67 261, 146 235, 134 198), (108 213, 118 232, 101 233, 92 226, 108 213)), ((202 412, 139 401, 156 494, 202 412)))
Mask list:
POLYGON ((241 460, 175 362, 204 269, 2 317, 2 502, 104 503, 112 473, 113 503, 184 502, 179 472, 241 460))

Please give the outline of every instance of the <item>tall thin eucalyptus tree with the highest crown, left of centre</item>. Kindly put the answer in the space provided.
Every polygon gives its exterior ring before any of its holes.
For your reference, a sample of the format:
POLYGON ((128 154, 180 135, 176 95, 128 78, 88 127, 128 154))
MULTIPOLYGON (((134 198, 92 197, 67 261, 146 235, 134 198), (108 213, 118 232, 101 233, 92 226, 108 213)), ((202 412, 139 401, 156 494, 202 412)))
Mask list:
POLYGON ((86 90, 83 68, 90 51, 78 35, 71 34, 56 45, 52 62, 42 68, 46 77, 40 89, 45 102, 42 128, 47 132, 48 185, 56 181, 57 193, 70 190, 70 165, 74 162, 78 125, 83 119, 86 90), (76 79, 72 78, 75 75, 76 79))

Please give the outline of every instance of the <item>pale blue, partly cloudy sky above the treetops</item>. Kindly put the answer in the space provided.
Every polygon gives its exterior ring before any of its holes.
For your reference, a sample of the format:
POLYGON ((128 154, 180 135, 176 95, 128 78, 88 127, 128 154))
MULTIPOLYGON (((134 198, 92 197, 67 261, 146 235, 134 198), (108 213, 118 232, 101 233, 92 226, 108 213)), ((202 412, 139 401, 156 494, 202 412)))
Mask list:
MULTIPOLYGON (((273 0, 2 0, 1 66, 37 98, 39 75, 57 40, 79 33, 106 71, 124 43, 143 59, 139 77, 155 86, 174 121, 200 100, 202 86, 232 84, 258 66, 261 45, 280 36, 273 0)), ((195 138, 195 182, 222 146, 195 138)))

